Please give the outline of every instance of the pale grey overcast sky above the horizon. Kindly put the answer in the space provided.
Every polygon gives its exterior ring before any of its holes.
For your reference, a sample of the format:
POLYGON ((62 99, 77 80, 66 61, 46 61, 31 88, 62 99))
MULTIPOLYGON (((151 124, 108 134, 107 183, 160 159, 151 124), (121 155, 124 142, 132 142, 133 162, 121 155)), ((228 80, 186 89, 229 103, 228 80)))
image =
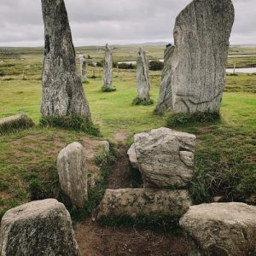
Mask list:
MULTIPOLYGON (((190 0, 66 0, 79 45, 172 42, 176 16, 190 0)), ((256 44, 256 0, 233 0, 231 44, 256 44)), ((0 46, 41 46, 40 0, 0 0, 0 46)))

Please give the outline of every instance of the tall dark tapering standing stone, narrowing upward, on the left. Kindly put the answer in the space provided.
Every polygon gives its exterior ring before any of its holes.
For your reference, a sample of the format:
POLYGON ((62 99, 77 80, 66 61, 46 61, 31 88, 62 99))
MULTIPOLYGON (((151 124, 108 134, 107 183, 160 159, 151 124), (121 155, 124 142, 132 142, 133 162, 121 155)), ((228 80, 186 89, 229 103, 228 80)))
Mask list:
POLYGON ((63 0, 41 0, 44 18, 43 116, 79 116, 90 109, 76 70, 75 50, 63 0))

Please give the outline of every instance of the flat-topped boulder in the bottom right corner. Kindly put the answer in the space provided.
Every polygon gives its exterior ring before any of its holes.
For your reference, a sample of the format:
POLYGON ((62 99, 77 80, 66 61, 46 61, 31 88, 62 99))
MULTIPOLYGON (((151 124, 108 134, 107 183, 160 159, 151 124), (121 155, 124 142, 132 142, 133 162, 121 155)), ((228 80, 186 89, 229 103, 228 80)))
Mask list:
POLYGON ((243 203, 212 203, 189 208, 180 225, 190 256, 256 255, 256 207, 243 203))

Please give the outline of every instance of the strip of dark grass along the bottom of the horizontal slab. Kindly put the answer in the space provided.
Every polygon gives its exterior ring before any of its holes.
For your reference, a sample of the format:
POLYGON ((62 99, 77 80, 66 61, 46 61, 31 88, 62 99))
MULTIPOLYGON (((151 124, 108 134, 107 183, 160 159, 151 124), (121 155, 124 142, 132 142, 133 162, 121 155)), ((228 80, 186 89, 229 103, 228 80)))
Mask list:
POLYGON ((110 227, 133 227, 139 229, 149 229, 160 233, 168 233, 172 235, 181 234, 179 227, 180 216, 147 216, 137 215, 136 218, 131 218, 127 215, 121 216, 102 216, 98 219, 99 224, 102 226, 110 227))

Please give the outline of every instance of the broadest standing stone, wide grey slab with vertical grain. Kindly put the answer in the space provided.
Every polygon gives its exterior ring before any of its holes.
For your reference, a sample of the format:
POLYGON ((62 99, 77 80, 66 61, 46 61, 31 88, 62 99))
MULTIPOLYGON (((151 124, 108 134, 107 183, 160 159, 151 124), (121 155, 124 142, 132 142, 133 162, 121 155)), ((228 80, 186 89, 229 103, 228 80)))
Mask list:
POLYGON ((194 0, 177 16, 172 92, 163 105, 172 102, 175 113, 218 112, 233 22, 231 0, 194 0))

